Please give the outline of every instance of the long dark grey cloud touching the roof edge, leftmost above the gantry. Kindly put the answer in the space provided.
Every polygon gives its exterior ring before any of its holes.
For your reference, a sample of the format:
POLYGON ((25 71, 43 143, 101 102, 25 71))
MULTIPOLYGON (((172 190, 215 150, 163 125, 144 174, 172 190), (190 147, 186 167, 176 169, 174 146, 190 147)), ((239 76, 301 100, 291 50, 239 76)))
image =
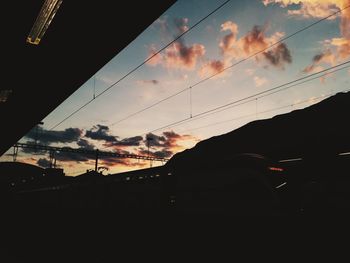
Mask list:
POLYGON ((68 128, 63 131, 50 131, 41 127, 32 129, 24 137, 35 140, 40 144, 69 143, 79 140, 82 130, 78 128, 68 128))

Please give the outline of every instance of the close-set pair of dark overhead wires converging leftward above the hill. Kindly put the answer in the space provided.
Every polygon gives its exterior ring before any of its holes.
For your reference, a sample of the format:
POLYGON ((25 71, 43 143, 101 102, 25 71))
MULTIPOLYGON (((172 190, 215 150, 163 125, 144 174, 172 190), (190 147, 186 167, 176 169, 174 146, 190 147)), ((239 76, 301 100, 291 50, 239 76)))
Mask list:
POLYGON ((144 133, 144 134, 154 133, 154 132, 157 132, 157 131, 160 131, 160 130, 164 130, 164 129, 167 129, 167 128, 171 128, 171 127, 174 127, 174 126, 183 124, 183 123, 185 123, 185 122, 194 121, 194 120, 197 120, 199 117, 207 116, 208 114, 213 114, 214 112, 217 113, 218 110, 224 110, 224 109, 226 110, 226 109, 228 109, 227 107, 229 107, 229 106, 231 106, 231 107, 234 107, 234 106, 237 107, 237 106, 240 106, 240 105, 242 105, 242 104, 246 104, 246 103, 248 103, 248 102, 255 101, 255 98, 262 98, 262 97, 270 96, 270 95, 272 95, 272 94, 274 94, 274 93, 280 92, 280 91, 282 91, 282 90, 289 89, 289 88, 291 88, 291 87, 295 87, 295 86, 301 85, 301 84, 303 84, 303 83, 305 83, 305 82, 308 82, 308 81, 311 81, 311 80, 315 80, 315 79, 324 77, 324 76, 326 76, 326 75, 329 75, 329 74, 331 74, 331 73, 337 72, 337 71, 339 71, 339 70, 347 69, 347 68, 349 68, 350 66, 345 66, 345 67, 341 67, 341 66, 347 65, 347 64, 349 64, 349 63, 350 63, 350 60, 349 60, 349 61, 346 61, 346 62, 343 62, 343 63, 340 63, 340 64, 338 64, 338 65, 336 65, 336 66, 329 67, 329 68, 327 68, 327 69, 320 70, 320 71, 318 71, 318 72, 309 74, 308 76, 301 77, 301 78, 298 78, 298 79, 289 81, 289 82, 287 82, 287 83, 278 85, 278 86, 276 86, 276 87, 267 89, 267 90, 265 90, 265 91, 262 91, 262 92, 259 92, 259 93, 256 93, 256 94, 253 94, 253 95, 250 95, 250 96, 241 98, 241 99, 239 99, 239 100, 235 100, 235 101, 232 101, 232 102, 230 102, 230 103, 227 103, 227 104, 224 104, 224 105, 215 107, 215 108, 213 108, 213 109, 210 109, 210 110, 207 110, 207 111, 198 113, 198 114, 196 114, 196 115, 193 115, 192 117, 184 118, 184 119, 182 119, 182 120, 179 120, 179 121, 170 123, 170 124, 168 124, 168 125, 165 125, 165 126, 163 126, 163 127, 154 129, 154 130, 149 131, 149 132, 144 133), (339 67, 341 67, 341 68, 339 68, 339 67), (336 69, 336 68, 339 68, 339 69, 336 69), (332 70, 332 69, 336 69, 336 70, 327 72, 327 71, 332 70), (309 79, 310 77, 319 75, 319 74, 321 74, 321 73, 324 73, 324 74, 322 74, 321 76, 318 76, 318 77, 309 79), (309 80, 306 80, 306 79, 309 79, 309 80), (298 83, 299 81, 302 81, 302 82, 298 83), (293 85, 292 85, 292 84, 293 84, 293 85), (291 86, 290 86, 290 85, 291 85, 291 86), (282 89, 283 87, 285 87, 285 88, 282 89), (271 92, 271 91, 273 91, 273 92, 271 92))

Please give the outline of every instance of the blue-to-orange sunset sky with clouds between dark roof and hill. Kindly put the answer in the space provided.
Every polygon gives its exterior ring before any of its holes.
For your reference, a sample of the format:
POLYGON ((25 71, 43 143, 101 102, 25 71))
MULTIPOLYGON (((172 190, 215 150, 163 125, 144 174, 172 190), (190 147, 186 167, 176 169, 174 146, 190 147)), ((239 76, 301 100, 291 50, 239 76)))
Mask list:
MULTIPOLYGON (((350 6, 350 0, 231 0, 190 29, 224 2, 177 1, 20 142, 37 138, 44 145, 170 158, 201 140, 310 106, 350 88, 350 68, 337 67, 339 71, 315 75, 319 78, 300 85, 224 107, 350 60, 350 8, 274 44, 350 6), (52 129, 94 95, 97 98, 87 107, 52 129), (149 109, 135 114, 145 108, 149 109), (207 111, 210 114, 204 114, 207 111), (182 120, 186 121, 166 127, 182 120), (147 138, 152 138, 150 152, 147 138)), ((11 161, 11 154, 12 149, 0 161, 11 161)), ((67 175, 94 168, 93 157, 60 153, 56 158, 67 175)), ((42 167, 49 165, 48 159, 48 153, 28 150, 17 157, 42 167)), ((111 174, 162 164, 100 160, 111 174)))

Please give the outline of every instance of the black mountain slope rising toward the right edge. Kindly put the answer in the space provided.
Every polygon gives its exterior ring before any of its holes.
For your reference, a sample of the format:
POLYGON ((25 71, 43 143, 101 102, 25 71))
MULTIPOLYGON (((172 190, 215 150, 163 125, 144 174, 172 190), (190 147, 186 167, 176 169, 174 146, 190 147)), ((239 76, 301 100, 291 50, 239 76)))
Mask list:
POLYGON ((275 160, 327 158, 350 151, 350 93, 338 93, 301 110, 250 122, 234 131, 199 142, 176 154, 168 167, 189 170, 225 161, 238 153, 257 153, 275 160))

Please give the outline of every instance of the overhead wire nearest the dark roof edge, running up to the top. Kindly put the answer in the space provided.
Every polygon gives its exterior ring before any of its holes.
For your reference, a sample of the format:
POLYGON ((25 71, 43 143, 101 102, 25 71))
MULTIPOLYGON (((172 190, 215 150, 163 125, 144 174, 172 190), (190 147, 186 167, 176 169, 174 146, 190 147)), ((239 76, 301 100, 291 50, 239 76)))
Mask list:
POLYGON ((136 66, 135 68, 133 68, 132 70, 130 70, 127 74, 125 74, 123 77, 121 77, 120 79, 118 79, 117 81, 115 81, 114 83, 112 83, 110 86, 108 86, 106 89, 104 89, 101 93, 99 93, 98 95, 94 96, 91 100, 87 101, 84 105, 82 105, 81 107, 79 107, 78 109, 76 109, 75 111, 73 111, 71 114, 69 114, 67 117, 65 117, 62 121, 58 122, 57 124, 55 124, 54 126, 52 126, 52 128, 50 130, 55 129, 56 127, 58 127, 59 125, 61 125, 63 122, 65 122, 66 120, 68 120, 69 118, 71 118, 73 115, 75 115, 76 113, 78 113, 79 111, 81 111, 83 108, 85 108, 86 106, 88 106, 91 102, 93 102, 95 99, 99 98, 100 96, 102 96, 103 94, 105 94, 107 91, 109 91, 111 88, 113 88, 115 85, 117 85, 118 83, 120 83, 121 81, 123 81, 125 78, 127 78, 128 76, 130 76, 131 74, 133 74, 135 71, 137 71, 140 67, 142 67, 143 65, 145 65, 148 61, 150 61, 152 58, 154 58, 155 56, 157 56, 159 53, 161 53, 162 51, 164 51, 166 48, 168 48, 169 46, 171 46, 173 43, 175 43, 177 40, 179 40, 181 37, 183 37, 185 34, 188 34, 191 30, 193 30, 194 28, 196 28, 199 24, 201 24, 204 20, 206 20, 208 17, 210 17, 212 14, 216 13, 218 10, 220 10, 222 7, 224 7, 228 2, 230 2, 231 0, 226 0, 225 2, 223 2, 222 4, 220 4, 218 7, 216 7, 213 11, 211 11, 209 14, 207 14, 206 16, 204 16, 203 18, 201 18, 200 20, 198 20, 193 26, 189 27, 186 31, 182 32, 181 34, 179 34, 176 38, 174 38, 171 42, 169 42, 168 44, 166 44, 165 46, 163 46, 161 49, 159 49, 157 52, 155 52, 152 56, 148 57, 146 60, 144 60, 141 64, 139 64, 138 66, 136 66))

